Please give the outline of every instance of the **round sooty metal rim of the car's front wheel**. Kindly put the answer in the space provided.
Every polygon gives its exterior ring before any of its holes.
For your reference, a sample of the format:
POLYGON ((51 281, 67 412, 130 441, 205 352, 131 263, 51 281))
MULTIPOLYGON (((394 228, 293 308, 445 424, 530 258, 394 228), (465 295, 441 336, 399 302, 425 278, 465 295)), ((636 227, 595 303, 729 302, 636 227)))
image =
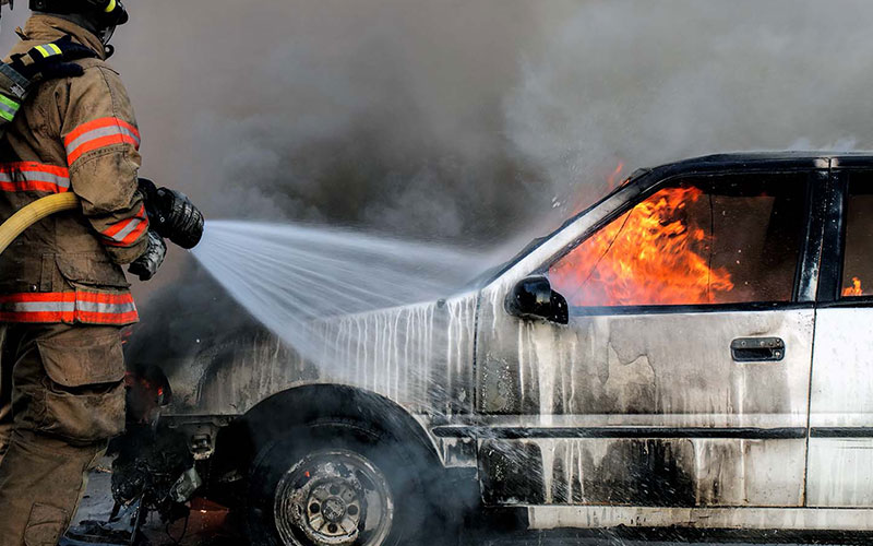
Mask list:
POLYGON ((394 520, 385 475, 347 450, 310 453, 276 487, 276 531, 286 545, 379 546, 394 520))

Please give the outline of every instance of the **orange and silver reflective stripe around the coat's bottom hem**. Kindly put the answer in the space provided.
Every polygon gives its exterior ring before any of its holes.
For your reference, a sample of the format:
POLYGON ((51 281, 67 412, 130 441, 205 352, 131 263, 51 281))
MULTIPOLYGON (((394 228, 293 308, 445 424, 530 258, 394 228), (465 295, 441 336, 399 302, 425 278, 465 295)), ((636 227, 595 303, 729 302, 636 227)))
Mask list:
POLYGON ((88 290, 0 296, 0 321, 130 324, 139 320, 130 293, 88 290))

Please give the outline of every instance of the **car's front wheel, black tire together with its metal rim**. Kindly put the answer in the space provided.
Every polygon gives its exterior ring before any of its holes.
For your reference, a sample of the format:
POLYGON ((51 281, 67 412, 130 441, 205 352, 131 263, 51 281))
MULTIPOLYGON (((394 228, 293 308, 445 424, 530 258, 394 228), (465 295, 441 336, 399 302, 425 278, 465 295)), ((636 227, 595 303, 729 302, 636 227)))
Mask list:
POLYGON ((434 471, 424 467, 430 463, 420 451, 349 419, 323 419, 288 430, 260 449, 252 463, 246 513, 252 546, 417 544, 434 514, 424 491, 427 476, 434 471), (380 523, 385 521, 383 495, 378 494, 382 490, 388 491, 393 508, 387 531, 380 523), (325 499, 327 495, 333 496, 325 499), (357 537, 345 533, 356 525, 357 537))

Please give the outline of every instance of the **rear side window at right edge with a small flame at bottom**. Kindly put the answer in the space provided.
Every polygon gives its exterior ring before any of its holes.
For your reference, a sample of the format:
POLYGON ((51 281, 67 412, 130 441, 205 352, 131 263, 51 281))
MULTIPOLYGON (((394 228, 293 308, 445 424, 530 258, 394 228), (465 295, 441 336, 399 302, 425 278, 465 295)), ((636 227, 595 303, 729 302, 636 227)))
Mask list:
POLYGON ((846 200, 844 298, 873 295, 873 216, 870 211, 873 211, 873 174, 852 173, 846 200))

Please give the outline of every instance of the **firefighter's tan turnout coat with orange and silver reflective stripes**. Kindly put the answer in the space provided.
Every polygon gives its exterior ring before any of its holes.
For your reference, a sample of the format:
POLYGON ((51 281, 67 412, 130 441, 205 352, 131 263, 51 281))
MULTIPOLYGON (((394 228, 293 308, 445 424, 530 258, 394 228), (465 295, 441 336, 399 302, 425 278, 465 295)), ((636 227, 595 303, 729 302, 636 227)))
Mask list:
POLYGON ((121 264, 146 248, 137 191, 140 132, 99 39, 34 15, 12 54, 69 34, 100 58, 84 75, 43 83, 0 142, 0 222, 35 200, 72 191, 81 207, 27 229, 0 256, 0 322, 123 325, 137 320, 121 264))

